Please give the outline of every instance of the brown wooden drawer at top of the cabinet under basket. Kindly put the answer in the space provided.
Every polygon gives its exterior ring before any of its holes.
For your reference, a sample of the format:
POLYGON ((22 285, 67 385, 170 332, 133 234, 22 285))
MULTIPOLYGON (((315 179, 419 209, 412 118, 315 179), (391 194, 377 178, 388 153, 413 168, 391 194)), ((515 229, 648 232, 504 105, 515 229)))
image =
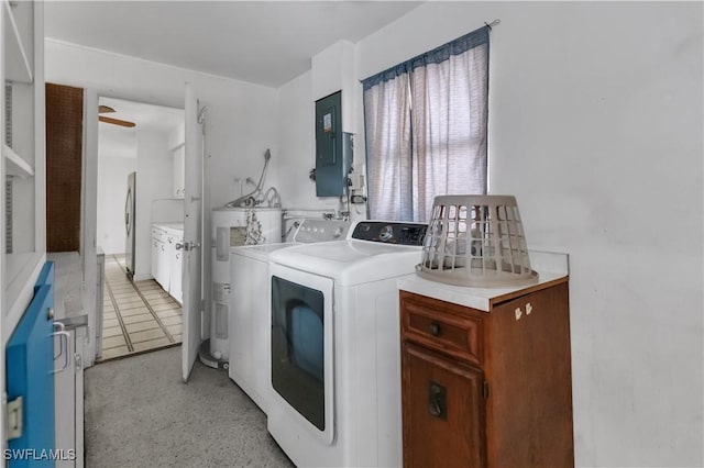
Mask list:
POLYGON ((465 308, 402 291, 402 338, 471 363, 482 363, 482 319, 465 308))

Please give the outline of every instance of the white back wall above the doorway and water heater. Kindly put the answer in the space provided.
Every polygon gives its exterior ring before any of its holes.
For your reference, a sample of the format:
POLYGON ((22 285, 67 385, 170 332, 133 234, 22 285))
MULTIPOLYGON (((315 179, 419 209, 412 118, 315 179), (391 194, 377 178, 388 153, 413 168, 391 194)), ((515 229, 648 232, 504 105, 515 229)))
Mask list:
MULTIPOLYGON (((266 148, 272 149, 266 185, 277 185, 275 90, 52 40, 45 45, 46 80, 51 82, 95 89, 100 96, 180 109, 184 108, 186 81, 194 85, 201 104, 210 107, 206 114, 208 170, 204 185, 207 207, 204 222, 208 230, 210 210, 239 194, 235 178, 258 180, 266 148)), ((204 252, 209 252, 209 234, 202 244, 204 252)), ((208 263, 204 272, 207 285, 210 255, 205 258, 208 263)))

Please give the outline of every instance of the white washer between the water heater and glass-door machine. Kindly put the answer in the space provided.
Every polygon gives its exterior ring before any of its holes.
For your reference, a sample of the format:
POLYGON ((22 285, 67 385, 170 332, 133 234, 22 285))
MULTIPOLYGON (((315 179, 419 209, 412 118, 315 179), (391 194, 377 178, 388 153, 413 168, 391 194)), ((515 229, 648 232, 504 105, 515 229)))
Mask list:
POLYGON ((302 220, 294 242, 232 247, 229 376, 266 413, 271 401, 270 254, 297 244, 346 238, 349 221, 302 220))

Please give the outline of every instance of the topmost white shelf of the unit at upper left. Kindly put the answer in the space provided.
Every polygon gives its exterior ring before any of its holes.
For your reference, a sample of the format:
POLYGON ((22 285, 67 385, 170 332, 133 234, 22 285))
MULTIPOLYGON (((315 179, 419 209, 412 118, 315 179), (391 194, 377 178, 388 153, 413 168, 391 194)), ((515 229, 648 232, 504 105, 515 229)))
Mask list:
POLYGON ((31 18, 32 4, 29 2, 13 2, 14 7, 8 0, 2 1, 6 9, 6 24, 4 24, 4 43, 6 43, 6 69, 4 79, 7 81, 18 82, 32 82, 32 66, 30 65, 30 57, 28 56, 28 47, 22 41, 20 34, 20 27, 18 25, 19 16, 24 13, 24 9, 30 9, 29 14, 31 18), (18 14, 15 18, 15 10, 18 14))

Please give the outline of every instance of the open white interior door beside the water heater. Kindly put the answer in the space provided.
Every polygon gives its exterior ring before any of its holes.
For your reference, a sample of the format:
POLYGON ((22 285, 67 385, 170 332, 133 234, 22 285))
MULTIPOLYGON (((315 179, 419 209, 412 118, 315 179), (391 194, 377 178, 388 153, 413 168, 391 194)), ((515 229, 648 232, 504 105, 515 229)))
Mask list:
POLYGON ((186 157, 184 197, 184 302, 183 378, 188 381, 202 342, 202 129, 199 104, 191 83, 186 83, 186 157))

